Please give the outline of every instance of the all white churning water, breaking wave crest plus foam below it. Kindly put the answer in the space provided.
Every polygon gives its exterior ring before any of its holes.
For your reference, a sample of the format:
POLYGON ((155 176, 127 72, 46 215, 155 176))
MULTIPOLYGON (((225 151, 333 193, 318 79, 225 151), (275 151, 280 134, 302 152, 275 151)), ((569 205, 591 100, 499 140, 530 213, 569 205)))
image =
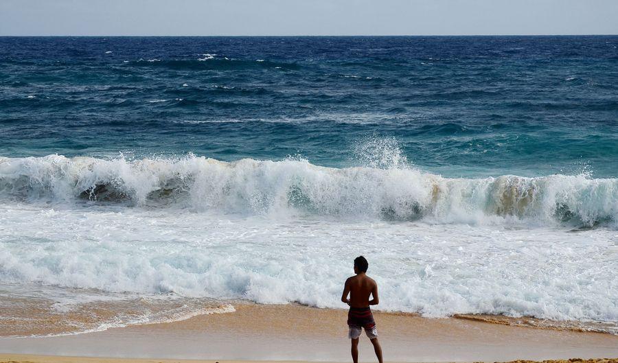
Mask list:
MULTIPOLYGON (((389 157, 389 167, 345 168, 301 158, 2 158, 0 297, 32 284, 60 299, 165 296, 182 302, 182 314, 170 308, 176 318, 196 314, 199 299, 341 307, 352 259, 365 255, 380 309, 615 332, 617 179, 444 178, 389 157)), ((155 310, 161 320, 166 310, 155 310)))

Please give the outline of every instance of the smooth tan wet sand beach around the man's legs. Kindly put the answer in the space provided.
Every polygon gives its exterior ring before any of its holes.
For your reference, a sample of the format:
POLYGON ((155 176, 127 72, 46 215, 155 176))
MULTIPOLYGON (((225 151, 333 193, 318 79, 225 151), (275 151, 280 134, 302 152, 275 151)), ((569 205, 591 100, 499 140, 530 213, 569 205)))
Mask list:
MULTIPOLYGON (((146 359, 144 362, 350 360, 343 309, 248 303, 235 307, 233 313, 195 316, 174 323, 71 336, 1 338, 0 357, 2 362, 111 362, 108 358, 122 358, 123 362, 137 362, 133 359, 138 358, 146 359), (71 356, 97 359, 65 358, 71 356)), ((389 362, 618 357, 618 336, 608 333, 538 329, 469 318, 428 319, 382 312, 375 316, 385 360, 389 362)), ((371 344, 364 336, 360 360, 374 360, 371 344)))

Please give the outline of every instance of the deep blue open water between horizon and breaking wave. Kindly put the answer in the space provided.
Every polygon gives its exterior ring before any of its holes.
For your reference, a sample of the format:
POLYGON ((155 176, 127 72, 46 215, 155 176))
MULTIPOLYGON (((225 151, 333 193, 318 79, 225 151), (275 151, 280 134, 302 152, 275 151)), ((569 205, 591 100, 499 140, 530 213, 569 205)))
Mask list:
POLYGON ((618 36, 0 38, 0 156, 617 176, 618 36), (390 146, 389 146, 390 147, 390 146), (365 150, 367 151, 367 150, 365 150), (371 152, 369 150, 368 152, 371 152))

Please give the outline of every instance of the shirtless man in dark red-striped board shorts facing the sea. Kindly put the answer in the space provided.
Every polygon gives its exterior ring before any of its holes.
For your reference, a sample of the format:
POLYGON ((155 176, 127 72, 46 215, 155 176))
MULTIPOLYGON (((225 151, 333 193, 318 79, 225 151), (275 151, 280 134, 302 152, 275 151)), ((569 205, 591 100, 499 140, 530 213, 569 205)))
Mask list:
POLYGON ((354 259, 354 273, 356 276, 349 277, 345 280, 343 295, 341 301, 350 305, 350 312, 347 313, 347 326, 350 327, 348 337, 352 339, 352 360, 358 363, 358 337, 361 336, 361 328, 365 328, 365 334, 374 344, 374 351, 378 357, 378 362, 382 363, 382 347, 378 342, 378 330, 374 315, 371 314, 369 305, 378 305, 378 284, 374 279, 367 276, 367 259, 363 256, 354 259), (347 298, 350 294, 350 298, 347 298), (369 296, 374 298, 369 300, 369 296))

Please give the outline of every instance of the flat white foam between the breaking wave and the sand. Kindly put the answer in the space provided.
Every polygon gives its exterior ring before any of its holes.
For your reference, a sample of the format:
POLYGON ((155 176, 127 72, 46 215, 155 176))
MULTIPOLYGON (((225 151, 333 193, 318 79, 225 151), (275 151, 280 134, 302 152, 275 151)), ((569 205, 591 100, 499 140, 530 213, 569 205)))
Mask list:
POLYGON ((381 309, 617 322, 617 238, 548 229, 2 205, 0 277, 108 292, 341 307, 367 255, 381 309), (36 223, 33 223, 36 221, 36 223))

